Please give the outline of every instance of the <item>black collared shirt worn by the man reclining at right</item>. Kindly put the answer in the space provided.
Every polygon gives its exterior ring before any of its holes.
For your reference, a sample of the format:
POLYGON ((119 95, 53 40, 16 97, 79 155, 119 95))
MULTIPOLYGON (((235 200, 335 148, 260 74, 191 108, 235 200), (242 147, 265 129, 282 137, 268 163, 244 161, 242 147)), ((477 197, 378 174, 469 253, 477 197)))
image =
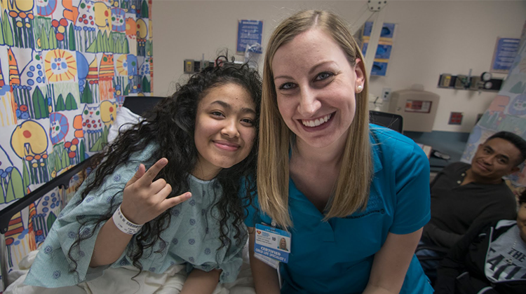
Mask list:
POLYGON ((460 186, 470 167, 454 162, 431 183, 431 221, 424 226, 424 243, 451 248, 474 223, 516 218, 515 195, 504 181, 460 186))

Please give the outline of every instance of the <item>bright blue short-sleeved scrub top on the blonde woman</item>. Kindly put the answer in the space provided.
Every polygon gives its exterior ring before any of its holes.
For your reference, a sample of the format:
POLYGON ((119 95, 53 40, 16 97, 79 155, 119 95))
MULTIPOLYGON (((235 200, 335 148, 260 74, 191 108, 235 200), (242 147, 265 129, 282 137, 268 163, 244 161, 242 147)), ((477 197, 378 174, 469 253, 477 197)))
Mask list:
MULTIPOLYGON (((389 232, 409 234, 431 218, 429 160, 411 139, 370 125, 375 168, 365 211, 323 221, 323 214, 289 179, 289 209, 293 228, 289 262, 281 262, 281 293, 362 293, 389 232)), ((245 224, 271 223, 250 207, 245 224)), ((253 273, 257 274, 257 272, 253 273)), ((433 293, 413 255, 401 294, 433 293)))

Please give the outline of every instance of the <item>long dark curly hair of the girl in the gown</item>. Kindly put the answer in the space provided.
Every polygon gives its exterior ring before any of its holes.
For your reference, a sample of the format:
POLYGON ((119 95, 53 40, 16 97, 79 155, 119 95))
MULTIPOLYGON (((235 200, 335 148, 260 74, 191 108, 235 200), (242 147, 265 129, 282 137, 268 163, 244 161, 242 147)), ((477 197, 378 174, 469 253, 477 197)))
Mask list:
MULTIPOLYGON (((188 191, 187 177, 198 160, 198 151, 194 143, 198 103, 208 94, 208 91, 215 87, 234 83, 243 87, 250 94, 256 106, 254 127, 255 134, 258 134, 262 89, 259 73, 256 69, 250 69, 248 64, 234 64, 225 62, 224 59, 227 57, 218 57, 217 66, 206 67, 191 76, 184 85, 177 84, 177 90, 171 97, 162 99, 154 109, 147 111, 144 114, 144 120, 120 134, 114 143, 107 146, 104 153, 95 155, 97 158, 93 159, 93 165, 96 167, 93 169, 93 174, 86 179, 86 186, 81 192, 82 200, 88 193, 99 188, 116 167, 127 162, 130 155, 142 151, 151 142, 155 142, 159 148, 151 154, 148 162, 168 158, 168 165, 161 169, 156 177, 156 179, 165 179, 172 186, 172 193, 168 197, 175 197, 188 191)), ((252 205, 252 193, 255 192, 253 179, 255 179, 257 145, 256 136, 248 157, 233 167, 222 169, 216 176, 223 190, 223 195, 214 204, 219 211, 218 221, 220 223, 220 243, 222 244, 220 248, 227 246, 229 250, 231 247, 231 240, 228 237, 228 222, 231 218, 234 219, 236 246, 243 246, 242 242, 247 235, 243 227, 243 212, 246 207, 252 205), (248 186, 243 187, 243 195, 240 197, 241 183, 248 186)), ((73 260, 71 272, 76 272, 77 262, 74 257, 77 255, 75 251, 79 250, 81 241, 93 237, 95 228, 102 226, 112 217, 112 212, 121 204, 116 202, 112 197, 110 207, 95 221, 93 230, 86 230, 88 220, 83 219, 84 216, 77 216, 81 228, 76 241, 69 248, 68 255, 73 260)), ((151 248, 158 241, 167 244, 167 241, 161 238, 161 232, 169 227, 170 219, 170 209, 168 209, 154 220, 145 223, 140 232, 133 236, 133 246, 128 247, 127 254, 133 260, 133 265, 140 271, 142 271, 142 264, 139 260, 144 250, 151 248)))

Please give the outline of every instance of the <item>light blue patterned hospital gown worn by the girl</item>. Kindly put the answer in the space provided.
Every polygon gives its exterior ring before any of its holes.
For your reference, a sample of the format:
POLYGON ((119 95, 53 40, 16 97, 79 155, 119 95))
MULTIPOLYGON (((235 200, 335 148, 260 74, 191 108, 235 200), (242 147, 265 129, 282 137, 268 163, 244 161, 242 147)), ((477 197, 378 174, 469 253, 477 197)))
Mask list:
MULTIPOLYGON (((29 274, 27 274, 25 284, 46 288, 73 286, 82 281, 95 279, 109 267, 132 264, 131 259, 126 255, 126 250, 112 265, 89 267, 95 239, 102 225, 95 229, 93 237, 81 242, 80 250, 74 250, 74 256, 78 259, 76 268, 78 274, 69 272, 72 261, 68 258, 68 251, 81 227, 76 217, 84 216, 84 219, 89 220, 81 234, 88 234, 90 230, 93 230, 98 215, 104 214, 110 207, 112 197, 114 197, 114 202, 122 202, 122 191, 126 182, 135 174, 140 163, 147 165, 146 160, 153 152, 155 152, 155 146, 150 144, 141 153, 133 155, 128 163, 117 167, 99 189, 89 193, 86 199, 78 204, 81 200, 81 190, 84 188, 81 186, 53 224, 53 228, 40 247, 29 274)), ((153 162, 150 162, 150 165, 152 164, 153 162)), ((95 173, 90 176, 93 174, 95 173)), ((225 246, 217 251, 221 245, 220 225, 217 219, 219 213, 217 209, 213 209, 213 204, 220 199, 222 188, 215 179, 201 181, 194 176, 189 176, 188 181, 192 197, 170 209, 170 214, 172 214, 170 227, 161 233, 161 238, 166 242, 159 240, 153 248, 144 250, 139 260, 142 269, 158 274, 165 272, 172 265, 180 264, 186 264, 188 271, 193 267, 207 272, 212 269, 222 269, 220 283, 233 282, 243 263, 243 248, 236 246, 235 230, 230 228, 231 248, 227 251, 225 246)), ((229 225, 232 226, 231 221, 229 225)), ((243 244, 245 241, 243 240, 243 244)), ((130 244, 128 244, 129 247, 130 244)))

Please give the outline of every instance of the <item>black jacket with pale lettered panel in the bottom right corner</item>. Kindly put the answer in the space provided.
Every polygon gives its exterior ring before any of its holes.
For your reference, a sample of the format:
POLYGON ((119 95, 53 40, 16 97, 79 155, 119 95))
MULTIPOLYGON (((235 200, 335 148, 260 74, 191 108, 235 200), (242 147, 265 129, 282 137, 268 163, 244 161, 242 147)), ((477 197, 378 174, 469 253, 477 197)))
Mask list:
POLYGON ((440 262, 436 294, 524 294, 525 253, 515 221, 474 226, 440 262))

